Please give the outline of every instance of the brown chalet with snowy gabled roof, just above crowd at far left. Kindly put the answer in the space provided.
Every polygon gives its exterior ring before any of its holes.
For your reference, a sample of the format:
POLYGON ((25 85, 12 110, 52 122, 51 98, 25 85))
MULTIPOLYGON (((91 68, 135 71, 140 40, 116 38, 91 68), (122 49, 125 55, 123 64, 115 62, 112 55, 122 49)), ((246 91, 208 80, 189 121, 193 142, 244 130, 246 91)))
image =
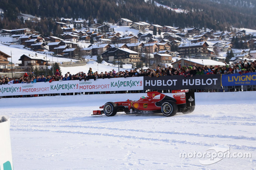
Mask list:
POLYGON ((19 64, 19 66, 22 69, 30 69, 31 67, 35 69, 37 67, 38 70, 45 70, 47 62, 50 62, 50 59, 46 58, 46 56, 44 55, 23 54, 20 56, 19 61, 21 61, 21 64, 19 64))

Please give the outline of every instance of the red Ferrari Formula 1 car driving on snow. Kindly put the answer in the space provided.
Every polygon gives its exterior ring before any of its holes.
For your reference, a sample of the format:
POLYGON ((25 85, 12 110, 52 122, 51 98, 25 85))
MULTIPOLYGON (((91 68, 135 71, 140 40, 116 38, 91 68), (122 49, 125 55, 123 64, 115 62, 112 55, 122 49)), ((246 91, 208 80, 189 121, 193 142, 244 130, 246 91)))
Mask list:
POLYGON ((148 92, 147 97, 142 96, 137 101, 107 102, 100 107, 103 110, 94 110, 93 115, 104 113, 106 116, 114 116, 117 112, 124 112, 126 114, 163 113, 165 116, 173 116, 177 112, 191 113, 195 110, 194 90, 173 90, 170 96, 160 92, 148 92))

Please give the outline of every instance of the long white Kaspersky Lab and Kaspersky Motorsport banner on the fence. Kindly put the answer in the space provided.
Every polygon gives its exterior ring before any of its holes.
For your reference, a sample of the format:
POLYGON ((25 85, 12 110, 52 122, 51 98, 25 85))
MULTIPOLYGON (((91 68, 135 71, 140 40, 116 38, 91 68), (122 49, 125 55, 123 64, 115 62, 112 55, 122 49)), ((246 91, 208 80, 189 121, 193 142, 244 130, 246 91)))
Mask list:
POLYGON ((107 92, 143 90, 143 77, 89 79, 0 85, 0 96, 68 92, 107 92))

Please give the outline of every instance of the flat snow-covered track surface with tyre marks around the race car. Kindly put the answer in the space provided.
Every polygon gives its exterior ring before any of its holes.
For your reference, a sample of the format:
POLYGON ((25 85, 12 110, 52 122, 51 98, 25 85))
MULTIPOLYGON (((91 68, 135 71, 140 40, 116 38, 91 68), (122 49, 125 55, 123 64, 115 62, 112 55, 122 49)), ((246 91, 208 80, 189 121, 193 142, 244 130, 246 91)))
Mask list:
POLYGON ((196 93, 195 111, 173 117, 91 116, 107 101, 142 95, 0 99, 1 113, 11 117, 14 169, 256 168, 256 92, 196 93), (215 145, 252 156, 211 165, 180 158, 180 153, 203 153, 215 145))

